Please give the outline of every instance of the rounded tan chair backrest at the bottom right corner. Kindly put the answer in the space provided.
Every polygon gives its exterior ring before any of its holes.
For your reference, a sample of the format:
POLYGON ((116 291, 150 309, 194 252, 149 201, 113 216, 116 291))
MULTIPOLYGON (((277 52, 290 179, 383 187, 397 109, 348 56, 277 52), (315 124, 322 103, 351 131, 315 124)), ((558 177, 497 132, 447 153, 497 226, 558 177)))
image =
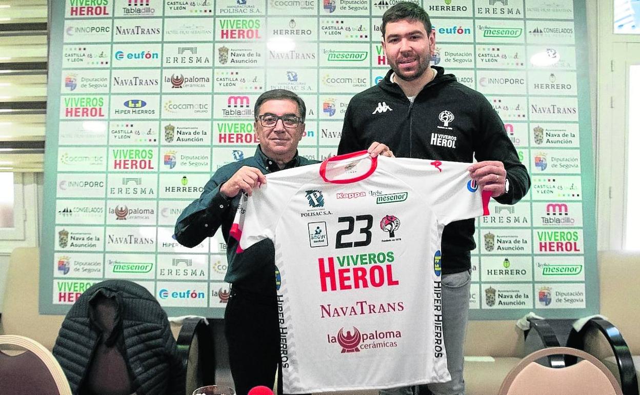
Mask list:
POLYGON ((593 355, 568 347, 534 351, 506 376, 498 395, 623 395, 609 369, 593 355), (549 355, 573 355, 582 360, 562 368, 542 366, 536 360, 549 355))

